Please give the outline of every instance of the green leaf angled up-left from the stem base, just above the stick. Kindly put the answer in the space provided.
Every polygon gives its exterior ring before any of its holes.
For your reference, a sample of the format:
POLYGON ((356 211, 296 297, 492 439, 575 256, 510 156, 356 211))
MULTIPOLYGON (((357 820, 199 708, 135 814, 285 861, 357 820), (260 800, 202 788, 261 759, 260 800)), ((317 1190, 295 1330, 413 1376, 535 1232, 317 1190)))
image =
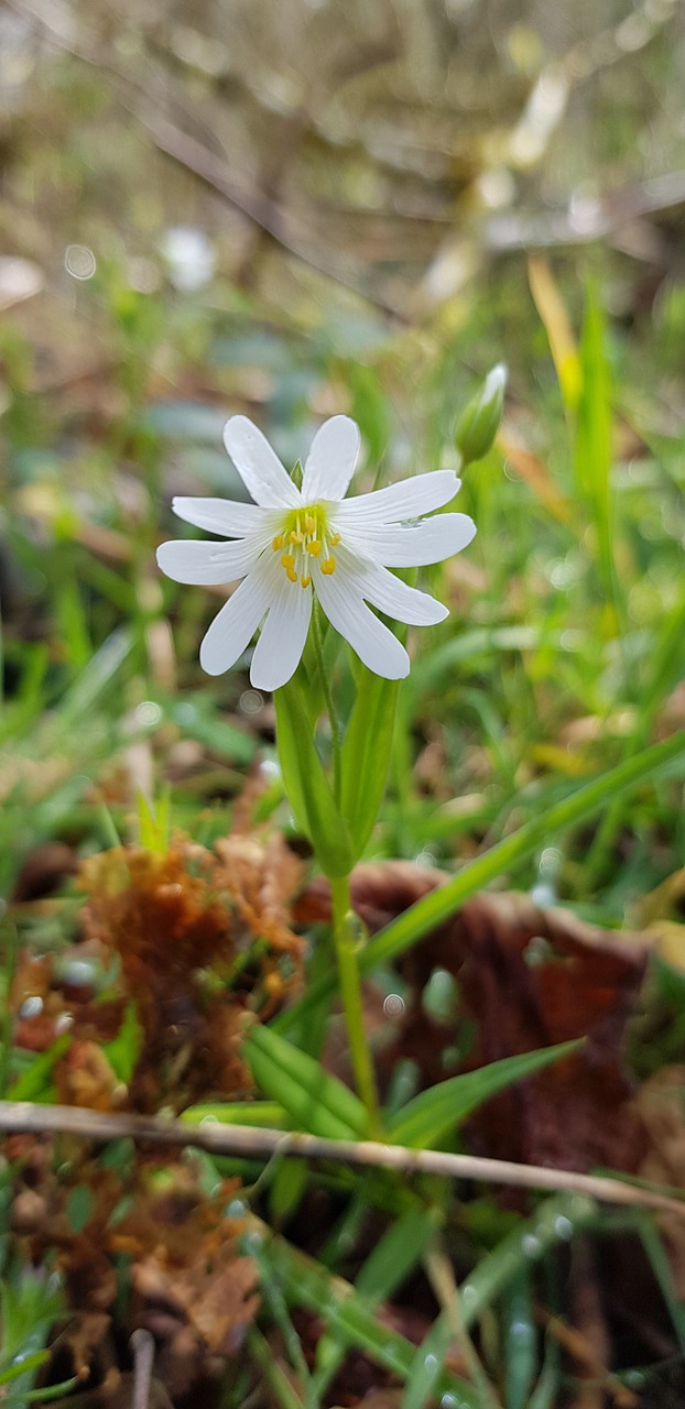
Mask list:
POLYGON ((354 1091, 271 1027, 252 1027, 242 1053, 257 1085, 280 1102, 299 1130, 328 1140, 362 1140, 366 1112, 354 1091))

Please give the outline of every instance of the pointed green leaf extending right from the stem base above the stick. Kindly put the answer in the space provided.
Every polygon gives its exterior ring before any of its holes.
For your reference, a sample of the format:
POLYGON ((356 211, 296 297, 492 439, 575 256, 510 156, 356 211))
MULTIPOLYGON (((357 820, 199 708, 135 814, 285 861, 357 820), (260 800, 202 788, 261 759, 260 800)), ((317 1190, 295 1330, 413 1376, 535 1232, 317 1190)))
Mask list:
POLYGON ((388 1126, 386 1134, 393 1144, 409 1146, 412 1150, 427 1150, 441 1140, 448 1130, 465 1120, 465 1117, 489 1100, 498 1091, 503 1091, 514 1081, 530 1076, 534 1071, 541 1071, 560 1057, 567 1057, 582 1044, 582 1038, 571 1043, 560 1043, 557 1047, 544 1047, 543 1051, 522 1053, 517 1057, 505 1057, 493 1061, 479 1071, 465 1072, 462 1076, 450 1076, 428 1091, 421 1091, 407 1106, 403 1106, 395 1120, 388 1126))

